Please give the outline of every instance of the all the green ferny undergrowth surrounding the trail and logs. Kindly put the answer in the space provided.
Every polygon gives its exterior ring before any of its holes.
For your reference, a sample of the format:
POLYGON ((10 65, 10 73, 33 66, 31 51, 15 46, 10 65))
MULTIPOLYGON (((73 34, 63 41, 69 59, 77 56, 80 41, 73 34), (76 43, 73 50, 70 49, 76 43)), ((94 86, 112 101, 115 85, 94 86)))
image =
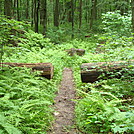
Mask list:
MULTIPOLYGON (((13 20, 12 20, 13 21, 13 20)), ((6 20, 4 26, 11 29, 19 22, 6 20)), ((24 25, 24 24, 22 24, 24 25)), ((125 69, 120 79, 100 80, 82 83, 80 66, 82 63, 129 61, 134 59, 133 37, 111 34, 95 34, 87 39, 74 39, 62 44, 54 44, 42 34, 28 30, 25 25, 23 37, 19 33, 2 36, 2 62, 47 63, 54 66, 51 80, 39 77, 31 69, 2 67, 0 69, 0 133, 2 134, 45 134, 50 129, 53 118, 55 93, 62 79, 64 67, 74 72, 77 89, 76 125, 87 134, 131 134, 133 130, 133 85, 134 70, 125 69), (18 38, 17 38, 18 37, 18 38), (10 38, 17 42, 11 43, 10 38), (69 56, 70 48, 84 49, 83 56, 69 56)), ((116 30, 116 29, 114 29, 116 30)), ((17 31, 17 30, 16 30, 17 31)), ((113 75, 118 75, 117 72, 113 75)))

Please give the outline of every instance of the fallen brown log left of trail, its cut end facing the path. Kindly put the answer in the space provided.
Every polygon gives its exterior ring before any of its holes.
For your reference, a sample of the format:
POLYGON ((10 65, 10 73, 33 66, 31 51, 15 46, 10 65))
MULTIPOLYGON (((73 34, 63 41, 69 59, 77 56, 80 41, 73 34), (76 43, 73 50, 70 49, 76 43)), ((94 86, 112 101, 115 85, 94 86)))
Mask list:
POLYGON ((32 68, 32 71, 40 71, 40 76, 47 79, 53 78, 54 67, 51 63, 0 63, 0 66, 3 65, 32 68))

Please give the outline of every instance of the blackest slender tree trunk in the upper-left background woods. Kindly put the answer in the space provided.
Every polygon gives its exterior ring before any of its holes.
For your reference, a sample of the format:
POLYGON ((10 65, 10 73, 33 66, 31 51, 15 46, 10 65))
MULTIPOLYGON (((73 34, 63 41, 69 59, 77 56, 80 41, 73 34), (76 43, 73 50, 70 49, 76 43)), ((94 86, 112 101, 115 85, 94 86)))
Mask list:
POLYGON ((40 0, 34 0, 34 23, 35 23, 35 32, 39 32, 39 8, 40 8, 40 0))

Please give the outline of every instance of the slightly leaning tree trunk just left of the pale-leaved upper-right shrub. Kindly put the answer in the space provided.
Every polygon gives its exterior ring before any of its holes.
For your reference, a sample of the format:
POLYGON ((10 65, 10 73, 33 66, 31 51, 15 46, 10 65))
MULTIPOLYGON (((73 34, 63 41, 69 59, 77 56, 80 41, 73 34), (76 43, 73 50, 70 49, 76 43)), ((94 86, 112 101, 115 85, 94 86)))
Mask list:
POLYGON ((92 29, 94 20, 97 19, 97 0, 92 0, 90 29, 92 29))

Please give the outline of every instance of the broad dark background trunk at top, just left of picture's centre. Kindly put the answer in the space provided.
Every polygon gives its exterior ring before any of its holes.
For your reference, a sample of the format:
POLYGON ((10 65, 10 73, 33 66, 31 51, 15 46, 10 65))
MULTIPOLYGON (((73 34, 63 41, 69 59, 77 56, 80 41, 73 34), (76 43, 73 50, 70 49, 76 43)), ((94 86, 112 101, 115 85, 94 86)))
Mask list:
POLYGON ((54 8, 54 26, 59 27, 59 0, 56 0, 54 8))

